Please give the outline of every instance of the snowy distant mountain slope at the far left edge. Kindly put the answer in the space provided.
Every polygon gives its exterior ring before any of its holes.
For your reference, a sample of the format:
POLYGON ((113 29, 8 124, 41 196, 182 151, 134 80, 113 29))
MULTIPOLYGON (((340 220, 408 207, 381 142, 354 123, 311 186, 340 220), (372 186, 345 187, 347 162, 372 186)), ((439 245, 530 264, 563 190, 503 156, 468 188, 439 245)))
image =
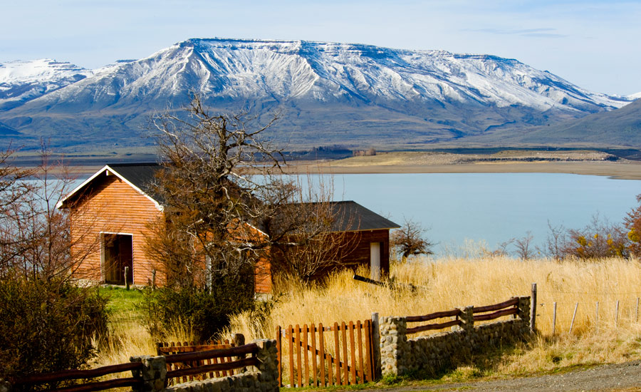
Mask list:
POLYGON ((20 105, 87 76, 92 71, 50 59, 0 63, 0 109, 20 105))

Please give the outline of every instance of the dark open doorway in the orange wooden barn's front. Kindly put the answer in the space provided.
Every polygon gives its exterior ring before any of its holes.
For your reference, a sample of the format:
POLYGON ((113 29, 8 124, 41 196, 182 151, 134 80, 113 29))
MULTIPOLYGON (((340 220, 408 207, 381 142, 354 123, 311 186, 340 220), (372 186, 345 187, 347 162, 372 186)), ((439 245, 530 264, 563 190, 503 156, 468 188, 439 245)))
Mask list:
POLYGON ((127 282, 132 282, 132 236, 129 234, 103 234, 103 271, 105 274, 105 283, 125 284, 125 267, 129 267, 127 282))

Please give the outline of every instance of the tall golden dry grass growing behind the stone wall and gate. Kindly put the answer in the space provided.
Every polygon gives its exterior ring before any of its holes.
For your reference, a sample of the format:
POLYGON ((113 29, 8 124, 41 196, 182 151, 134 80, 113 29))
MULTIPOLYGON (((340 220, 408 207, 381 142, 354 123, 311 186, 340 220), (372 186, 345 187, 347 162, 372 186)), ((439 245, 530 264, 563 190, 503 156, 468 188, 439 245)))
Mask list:
MULTIPOLYGON (((361 271, 360 274, 367 274, 361 271)), ((230 331, 247 339, 275 336, 276 326, 349 321, 381 316, 428 314, 462 306, 481 306, 528 296, 538 286, 537 328, 552 333, 553 303, 557 303, 556 333, 568 332, 578 303, 573 333, 597 327, 603 331, 637 324, 637 298, 641 297, 641 263, 638 260, 602 261, 528 260, 506 257, 482 259, 418 258, 392 263, 390 275, 410 290, 390 290, 352 279, 350 272, 333 274, 323 285, 303 287, 293 279, 276 284, 271 317, 257 323, 251 313, 231 321, 230 331), (618 322, 616 302, 619 301, 618 322)))

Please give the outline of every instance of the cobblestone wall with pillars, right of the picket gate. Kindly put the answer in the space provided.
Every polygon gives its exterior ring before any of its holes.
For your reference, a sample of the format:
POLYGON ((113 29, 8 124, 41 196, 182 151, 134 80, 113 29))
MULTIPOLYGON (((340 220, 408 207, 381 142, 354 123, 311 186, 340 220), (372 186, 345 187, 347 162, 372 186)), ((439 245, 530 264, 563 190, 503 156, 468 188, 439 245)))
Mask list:
POLYGON ((380 361, 383 376, 413 372, 438 373, 467 361, 471 354, 513 344, 531 333, 530 297, 518 297, 514 319, 474 326, 474 307, 462 308, 462 326, 452 331, 408 339, 405 317, 380 318, 380 361))

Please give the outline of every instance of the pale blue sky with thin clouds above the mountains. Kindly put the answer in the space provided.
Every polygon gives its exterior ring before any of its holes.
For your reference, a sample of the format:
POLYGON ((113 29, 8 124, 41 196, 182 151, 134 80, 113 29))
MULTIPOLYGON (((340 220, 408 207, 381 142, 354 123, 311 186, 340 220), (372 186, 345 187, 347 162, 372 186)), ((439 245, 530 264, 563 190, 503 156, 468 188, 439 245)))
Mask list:
POLYGON ((187 38, 274 38, 516 58, 591 91, 641 92, 641 1, 3 0, 0 61, 98 68, 187 38))

